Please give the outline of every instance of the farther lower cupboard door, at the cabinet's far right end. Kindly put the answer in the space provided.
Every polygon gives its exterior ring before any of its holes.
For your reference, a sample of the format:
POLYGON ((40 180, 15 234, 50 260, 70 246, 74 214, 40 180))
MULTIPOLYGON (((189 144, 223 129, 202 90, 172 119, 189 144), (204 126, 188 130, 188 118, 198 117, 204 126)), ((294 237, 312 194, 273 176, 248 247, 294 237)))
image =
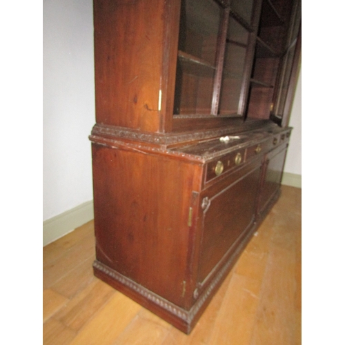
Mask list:
POLYGON ((282 181, 287 146, 279 146, 270 152, 264 163, 264 181, 259 199, 259 213, 263 212, 275 197, 282 181))

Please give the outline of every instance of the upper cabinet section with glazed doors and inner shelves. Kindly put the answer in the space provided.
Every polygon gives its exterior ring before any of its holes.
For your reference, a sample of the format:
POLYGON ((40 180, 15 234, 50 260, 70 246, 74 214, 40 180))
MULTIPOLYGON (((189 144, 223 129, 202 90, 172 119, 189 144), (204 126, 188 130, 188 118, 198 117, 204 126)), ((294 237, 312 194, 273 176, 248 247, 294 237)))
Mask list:
POLYGON ((94 0, 97 124, 141 132, 284 124, 295 0, 94 0))

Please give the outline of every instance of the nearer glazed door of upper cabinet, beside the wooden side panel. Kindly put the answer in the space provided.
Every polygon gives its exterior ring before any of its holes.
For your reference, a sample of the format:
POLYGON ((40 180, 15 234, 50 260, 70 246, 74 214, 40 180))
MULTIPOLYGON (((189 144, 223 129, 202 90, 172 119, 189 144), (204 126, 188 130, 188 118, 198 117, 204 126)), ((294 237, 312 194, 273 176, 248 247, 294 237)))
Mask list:
POLYGON ((175 117, 242 115, 255 0, 182 0, 175 117))

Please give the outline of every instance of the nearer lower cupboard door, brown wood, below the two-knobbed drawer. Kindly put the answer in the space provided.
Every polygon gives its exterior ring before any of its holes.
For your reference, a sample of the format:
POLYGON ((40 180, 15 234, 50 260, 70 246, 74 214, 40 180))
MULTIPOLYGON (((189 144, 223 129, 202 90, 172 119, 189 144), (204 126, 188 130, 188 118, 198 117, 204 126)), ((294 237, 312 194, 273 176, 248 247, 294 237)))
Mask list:
MULTIPOLYGON (((209 188, 201 195, 203 237, 199 258, 198 282, 203 285, 246 235, 254 221, 259 164, 245 169, 236 181, 230 176, 229 184, 209 188), (212 189, 212 190, 211 190, 212 189), (220 190, 219 190, 220 189, 220 190)), ((233 175, 237 175, 235 172, 233 175)))

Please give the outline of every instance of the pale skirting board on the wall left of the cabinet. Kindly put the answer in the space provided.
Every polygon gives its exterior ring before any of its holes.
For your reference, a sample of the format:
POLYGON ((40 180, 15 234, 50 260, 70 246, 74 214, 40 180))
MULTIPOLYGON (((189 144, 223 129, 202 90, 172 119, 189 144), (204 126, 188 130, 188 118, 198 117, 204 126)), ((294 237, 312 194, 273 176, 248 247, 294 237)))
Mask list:
POLYGON ((93 219, 93 200, 43 221, 43 247, 93 219))

